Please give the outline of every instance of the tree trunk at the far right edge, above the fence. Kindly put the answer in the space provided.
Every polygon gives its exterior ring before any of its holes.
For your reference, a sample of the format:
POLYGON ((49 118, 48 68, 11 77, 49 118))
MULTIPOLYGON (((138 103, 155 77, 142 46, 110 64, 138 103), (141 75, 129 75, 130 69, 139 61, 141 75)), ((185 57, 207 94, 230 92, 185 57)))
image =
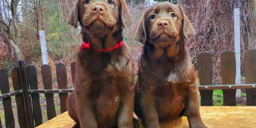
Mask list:
POLYGON ((248 49, 256 48, 256 0, 247 0, 248 18, 247 18, 247 46, 248 49))

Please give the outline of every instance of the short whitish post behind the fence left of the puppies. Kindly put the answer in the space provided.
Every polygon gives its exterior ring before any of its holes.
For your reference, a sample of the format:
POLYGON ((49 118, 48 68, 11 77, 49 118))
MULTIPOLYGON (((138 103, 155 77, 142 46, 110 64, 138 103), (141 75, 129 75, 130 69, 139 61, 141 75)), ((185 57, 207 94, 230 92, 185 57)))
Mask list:
POLYGON ((45 41, 45 33, 44 30, 39 31, 40 35, 40 43, 41 43, 41 52, 42 52, 42 60, 43 65, 48 65, 47 51, 46 51, 46 41, 45 41))

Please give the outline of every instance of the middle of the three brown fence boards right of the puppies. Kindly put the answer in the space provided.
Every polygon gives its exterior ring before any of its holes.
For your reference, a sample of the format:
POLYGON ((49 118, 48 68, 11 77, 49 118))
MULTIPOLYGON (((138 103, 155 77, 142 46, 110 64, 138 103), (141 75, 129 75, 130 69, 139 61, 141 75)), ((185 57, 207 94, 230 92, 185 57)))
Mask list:
MULTIPOLYGON (((226 50, 221 53, 221 76, 223 80, 223 85, 235 84, 235 75, 235 52, 231 50, 226 50)), ((223 106, 236 106, 236 89, 222 89, 222 92, 223 106)))

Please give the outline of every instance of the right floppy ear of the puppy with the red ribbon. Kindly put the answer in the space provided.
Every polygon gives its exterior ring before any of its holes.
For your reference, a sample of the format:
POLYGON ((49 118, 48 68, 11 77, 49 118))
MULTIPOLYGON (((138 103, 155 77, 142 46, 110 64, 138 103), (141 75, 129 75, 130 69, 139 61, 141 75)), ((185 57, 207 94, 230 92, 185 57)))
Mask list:
POLYGON ((126 2, 124 0, 120 0, 120 17, 122 20, 123 27, 126 28, 132 24, 132 17, 129 13, 128 7, 126 6, 126 2))

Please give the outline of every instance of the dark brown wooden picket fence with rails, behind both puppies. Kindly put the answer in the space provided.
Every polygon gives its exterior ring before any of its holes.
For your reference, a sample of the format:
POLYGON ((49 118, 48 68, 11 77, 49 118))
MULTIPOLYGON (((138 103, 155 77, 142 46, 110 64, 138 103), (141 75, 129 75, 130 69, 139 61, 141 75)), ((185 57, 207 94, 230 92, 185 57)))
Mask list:
MULTIPOLYGON (((222 89, 224 106, 236 106, 236 89, 246 89, 247 106, 256 106, 256 49, 246 50, 244 53, 245 85, 235 84, 235 52, 224 51, 221 53, 221 75, 223 85, 212 85, 213 62, 212 54, 200 53, 197 57, 198 75, 200 80, 199 91, 201 94, 201 106, 213 106, 213 90, 222 89)), ((12 85, 14 92, 9 92, 9 80, 7 71, 0 69, 0 90, 4 106, 4 118, 6 127, 14 128, 14 116, 11 106, 11 96, 15 96, 17 104, 18 122, 21 128, 32 128, 42 124, 42 111, 40 107, 39 93, 45 94, 48 120, 56 116, 53 93, 60 97, 60 111, 66 111, 65 100, 73 89, 67 89, 66 65, 56 65, 57 83, 59 89, 52 89, 52 73, 49 65, 41 66, 44 90, 38 89, 36 67, 27 66, 25 60, 18 60, 17 67, 11 69, 12 85), (32 102, 31 102, 32 101, 32 102)), ((71 63, 71 76, 74 83, 75 62, 71 63)), ((0 119, 0 128, 2 123, 0 119)))

